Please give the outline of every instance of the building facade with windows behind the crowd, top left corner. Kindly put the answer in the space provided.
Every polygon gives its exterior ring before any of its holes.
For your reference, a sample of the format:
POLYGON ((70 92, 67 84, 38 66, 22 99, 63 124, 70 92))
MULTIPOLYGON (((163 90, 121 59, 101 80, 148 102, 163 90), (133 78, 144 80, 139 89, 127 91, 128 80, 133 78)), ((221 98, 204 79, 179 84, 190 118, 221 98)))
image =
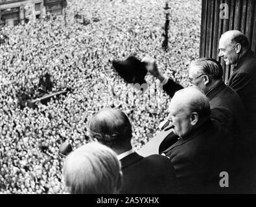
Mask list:
POLYGON ((0 0, 0 27, 24 25, 48 13, 62 14, 64 6, 65 0, 0 0))

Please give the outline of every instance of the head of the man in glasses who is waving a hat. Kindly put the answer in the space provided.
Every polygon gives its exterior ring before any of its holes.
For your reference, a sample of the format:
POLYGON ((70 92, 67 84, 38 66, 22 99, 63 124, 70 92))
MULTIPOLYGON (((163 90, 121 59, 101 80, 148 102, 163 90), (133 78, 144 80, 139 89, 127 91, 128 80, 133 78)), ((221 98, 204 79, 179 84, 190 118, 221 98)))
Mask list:
POLYGON ((189 67, 189 82, 205 94, 222 82, 222 76, 222 66, 213 58, 199 58, 189 67))

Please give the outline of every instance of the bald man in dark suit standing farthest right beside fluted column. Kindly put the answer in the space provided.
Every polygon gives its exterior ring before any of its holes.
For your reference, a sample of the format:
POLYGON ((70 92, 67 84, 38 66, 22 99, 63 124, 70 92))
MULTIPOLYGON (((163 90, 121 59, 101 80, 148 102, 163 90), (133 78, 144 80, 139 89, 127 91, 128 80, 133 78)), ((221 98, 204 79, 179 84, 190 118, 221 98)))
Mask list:
POLYGON ((226 65, 235 65, 227 85, 240 96, 246 109, 246 133, 256 142, 256 54, 250 49, 248 38, 238 30, 222 34, 218 56, 226 65))

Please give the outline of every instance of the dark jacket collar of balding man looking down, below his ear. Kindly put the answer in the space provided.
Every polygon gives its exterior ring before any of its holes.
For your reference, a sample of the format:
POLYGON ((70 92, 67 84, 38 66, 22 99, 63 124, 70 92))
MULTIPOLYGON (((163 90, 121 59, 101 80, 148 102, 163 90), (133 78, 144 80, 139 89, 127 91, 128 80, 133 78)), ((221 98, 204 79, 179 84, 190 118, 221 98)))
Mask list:
POLYGON ((198 137, 198 135, 201 135, 206 130, 210 129, 212 124, 213 124, 213 122, 211 122, 210 119, 207 120, 204 124, 200 125, 196 129, 192 130, 191 133, 189 133, 188 135, 185 135, 185 136, 181 137, 177 142, 172 144, 172 146, 170 146, 168 149, 165 149, 165 151, 163 151, 163 153, 166 154, 168 151, 170 151, 174 147, 185 144, 186 142, 189 142, 189 140, 192 140, 193 138, 198 137))

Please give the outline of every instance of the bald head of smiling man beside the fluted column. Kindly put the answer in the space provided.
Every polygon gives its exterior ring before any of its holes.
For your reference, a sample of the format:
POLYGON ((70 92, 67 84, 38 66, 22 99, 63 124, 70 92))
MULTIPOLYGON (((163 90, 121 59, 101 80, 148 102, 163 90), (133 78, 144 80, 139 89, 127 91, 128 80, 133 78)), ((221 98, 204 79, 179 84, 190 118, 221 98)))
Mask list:
POLYGON ((218 49, 218 56, 223 58, 226 65, 233 65, 248 51, 249 41, 239 30, 229 30, 220 37, 218 49))

